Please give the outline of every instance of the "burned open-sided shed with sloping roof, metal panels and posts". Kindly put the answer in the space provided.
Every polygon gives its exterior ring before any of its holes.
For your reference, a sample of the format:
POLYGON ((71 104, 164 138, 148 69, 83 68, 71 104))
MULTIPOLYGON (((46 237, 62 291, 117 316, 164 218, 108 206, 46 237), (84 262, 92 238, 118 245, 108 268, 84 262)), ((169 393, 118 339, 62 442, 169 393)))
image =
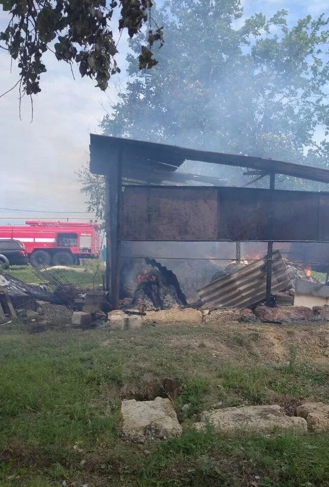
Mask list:
POLYGON ((94 134, 90 152, 92 173, 106 180, 113 309, 124 241, 267 242, 267 302, 273 242, 329 242, 329 193, 275 189, 276 175, 329 183, 327 169, 94 134), (248 168, 254 181, 268 176, 269 188, 227 187, 218 178, 177 171, 186 160, 248 168))

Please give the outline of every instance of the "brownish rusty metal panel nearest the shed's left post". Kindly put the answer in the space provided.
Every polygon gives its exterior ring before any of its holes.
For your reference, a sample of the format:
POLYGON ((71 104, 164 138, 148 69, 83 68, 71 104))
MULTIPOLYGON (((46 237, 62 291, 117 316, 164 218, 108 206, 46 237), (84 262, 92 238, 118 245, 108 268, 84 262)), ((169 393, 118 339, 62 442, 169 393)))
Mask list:
POLYGON ((217 188, 125 187, 121 240, 217 240, 217 188))

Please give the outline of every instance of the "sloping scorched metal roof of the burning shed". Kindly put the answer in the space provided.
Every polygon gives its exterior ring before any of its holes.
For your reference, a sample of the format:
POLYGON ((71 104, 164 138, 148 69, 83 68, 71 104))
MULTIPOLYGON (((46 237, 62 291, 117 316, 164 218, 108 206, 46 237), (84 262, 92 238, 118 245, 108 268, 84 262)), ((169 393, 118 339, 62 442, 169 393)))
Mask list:
MULTIPOLYGON (((188 149, 186 147, 170 146, 156 142, 96 134, 91 134, 90 168, 92 173, 105 174, 107 163, 110 163, 111 157, 116 157, 118 151, 121 150, 124 155, 126 177, 134 178, 143 173, 149 175, 151 171, 155 178, 154 182, 163 179, 164 175, 169 178, 169 181, 175 181, 178 178, 184 182, 182 180, 182 174, 175 174, 175 171, 184 161, 190 160, 248 167, 253 170, 263 171, 264 174, 274 172, 295 178, 329 183, 329 170, 320 167, 278 161, 270 158, 188 149)), ((198 178, 196 175, 185 174, 185 176, 198 178)), ((201 176, 200 178, 199 182, 204 182, 203 177, 201 176)), ((216 180, 216 178, 208 179, 214 179, 214 182, 216 180)))

